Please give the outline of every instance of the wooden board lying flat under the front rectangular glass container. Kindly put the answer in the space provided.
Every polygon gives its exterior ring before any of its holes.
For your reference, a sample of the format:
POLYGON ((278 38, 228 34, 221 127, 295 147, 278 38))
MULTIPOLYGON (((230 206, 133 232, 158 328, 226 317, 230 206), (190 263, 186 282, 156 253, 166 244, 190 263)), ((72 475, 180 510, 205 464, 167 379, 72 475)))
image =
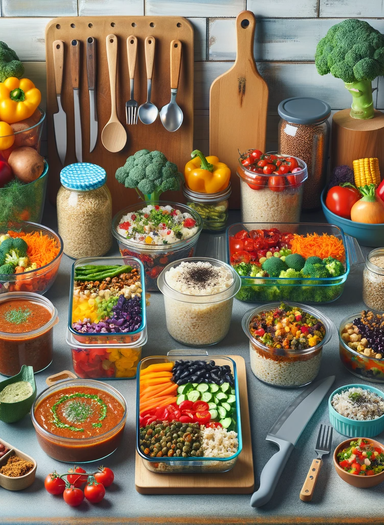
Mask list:
POLYGON ((236 465, 222 474, 154 474, 145 468, 136 452, 135 486, 141 494, 249 494, 254 489, 251 428, 248 406, 246 362, 240 355, 229 355, 236 362, 240 393, 243 449, 236 465))

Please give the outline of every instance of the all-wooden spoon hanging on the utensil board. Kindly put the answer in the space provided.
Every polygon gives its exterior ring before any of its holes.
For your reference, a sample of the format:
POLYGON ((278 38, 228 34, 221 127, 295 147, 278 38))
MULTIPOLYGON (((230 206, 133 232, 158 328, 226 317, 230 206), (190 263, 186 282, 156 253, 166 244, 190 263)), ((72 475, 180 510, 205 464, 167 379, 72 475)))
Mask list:
POLYGON ((118 61, 118 39, 116 35, 106 37, 106 58, 111 88, 111 118, 101 133, 101 142, 106 150, 116 153, 116 151, 121 151, 126 143, 126 131, 116 112, 116 68, 118 61))

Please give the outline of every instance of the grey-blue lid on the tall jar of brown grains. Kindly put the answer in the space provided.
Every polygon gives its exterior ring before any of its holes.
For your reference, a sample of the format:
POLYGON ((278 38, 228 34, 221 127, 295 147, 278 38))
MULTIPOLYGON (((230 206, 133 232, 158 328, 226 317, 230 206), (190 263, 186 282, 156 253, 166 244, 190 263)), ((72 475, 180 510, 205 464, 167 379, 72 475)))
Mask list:
POLYGON ((330 115, 330 106, 313 97, 292 97, 278 107, 282 119, 295 124, 320 124, 330 115))

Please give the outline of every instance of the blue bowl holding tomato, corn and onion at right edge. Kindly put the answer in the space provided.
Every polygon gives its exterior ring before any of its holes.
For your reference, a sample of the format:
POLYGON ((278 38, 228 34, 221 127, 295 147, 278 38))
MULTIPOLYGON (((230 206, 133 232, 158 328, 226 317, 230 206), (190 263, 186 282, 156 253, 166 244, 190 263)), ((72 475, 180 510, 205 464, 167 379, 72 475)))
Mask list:
POLYGON ((321 196, 323 212, 328 223, 335 224, 343 229, 345 234, 356 237, 361 246, 384 246, 384 224, 355 223, 353 220, 339 217, 331 212, 325 205, 327 188, 321 196))

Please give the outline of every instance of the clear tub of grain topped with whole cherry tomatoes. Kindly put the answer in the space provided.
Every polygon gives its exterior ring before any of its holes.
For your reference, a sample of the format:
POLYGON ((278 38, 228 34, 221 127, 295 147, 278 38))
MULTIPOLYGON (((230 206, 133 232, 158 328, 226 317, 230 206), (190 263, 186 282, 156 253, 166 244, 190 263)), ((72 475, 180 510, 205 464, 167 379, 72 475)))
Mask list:
POLYGON ((241 155, 241 217, 243 222, 286 222, 300 220, 305 162, 289 155, 249 150, 241 155))

